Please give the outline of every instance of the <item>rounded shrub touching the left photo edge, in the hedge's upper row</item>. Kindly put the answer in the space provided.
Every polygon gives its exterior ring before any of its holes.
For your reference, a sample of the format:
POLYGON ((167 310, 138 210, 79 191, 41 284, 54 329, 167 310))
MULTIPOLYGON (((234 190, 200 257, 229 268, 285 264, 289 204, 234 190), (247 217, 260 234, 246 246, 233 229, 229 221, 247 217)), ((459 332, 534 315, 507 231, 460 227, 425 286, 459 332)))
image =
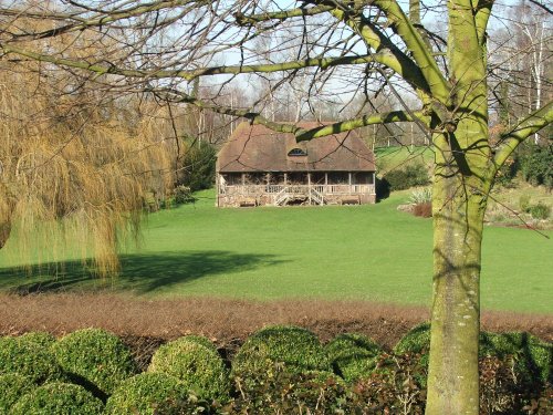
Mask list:
POLYGON ((63 371, 50 349, 23 338, 0 339, 0 375, 18 373, 32 383, 58 381, 63 371))

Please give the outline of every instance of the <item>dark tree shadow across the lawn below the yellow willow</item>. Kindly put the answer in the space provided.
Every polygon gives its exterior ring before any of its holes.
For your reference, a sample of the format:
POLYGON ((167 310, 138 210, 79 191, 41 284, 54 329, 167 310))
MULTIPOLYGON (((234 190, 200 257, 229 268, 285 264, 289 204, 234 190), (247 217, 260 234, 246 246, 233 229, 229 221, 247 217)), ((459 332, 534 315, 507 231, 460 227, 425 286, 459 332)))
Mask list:
POLYGON ((21 295, 64 291, 131 291, 146 294, 170 289, 199 278, 237 273, 281 263, 273 255, 243 255, 229 251, 159 252, 124 255, 122 272, 101 279, 80 261, 0 269, 0 291, 21 295))

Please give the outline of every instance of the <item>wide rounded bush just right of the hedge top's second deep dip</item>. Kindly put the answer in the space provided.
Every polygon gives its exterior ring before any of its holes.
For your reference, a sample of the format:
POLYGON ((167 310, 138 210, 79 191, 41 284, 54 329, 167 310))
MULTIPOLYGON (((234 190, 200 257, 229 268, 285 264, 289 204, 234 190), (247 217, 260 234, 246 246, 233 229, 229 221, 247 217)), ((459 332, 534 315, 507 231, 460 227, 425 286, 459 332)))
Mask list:
POLYGON ((275 363, 294 373, 331 370, 315 334, 298 326, 274 325, 248 338, 234 356, 232 375, 255 383, 265 377, 275 363))

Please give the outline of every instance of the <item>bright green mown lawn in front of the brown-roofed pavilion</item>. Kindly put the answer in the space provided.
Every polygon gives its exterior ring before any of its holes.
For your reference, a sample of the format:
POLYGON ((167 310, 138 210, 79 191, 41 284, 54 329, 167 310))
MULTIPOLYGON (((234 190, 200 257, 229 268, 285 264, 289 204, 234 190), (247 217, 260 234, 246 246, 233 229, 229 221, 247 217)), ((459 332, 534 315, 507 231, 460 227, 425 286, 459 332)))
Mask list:
MULTIPOLYGON (((10 243, 0 251, 0 290, 106 289, 142 295, 322 298, 429 304, 431 220, 374 206, 217 209, 213 191, 150 215, 123 273, 90 278, 66 262, 58 278, 24 277, 10 243)), ((551 237, 553 232, 547 232, 551 237)), ((483 309, 553 312, 553 242, 534 231, 487 228, 483 309)))

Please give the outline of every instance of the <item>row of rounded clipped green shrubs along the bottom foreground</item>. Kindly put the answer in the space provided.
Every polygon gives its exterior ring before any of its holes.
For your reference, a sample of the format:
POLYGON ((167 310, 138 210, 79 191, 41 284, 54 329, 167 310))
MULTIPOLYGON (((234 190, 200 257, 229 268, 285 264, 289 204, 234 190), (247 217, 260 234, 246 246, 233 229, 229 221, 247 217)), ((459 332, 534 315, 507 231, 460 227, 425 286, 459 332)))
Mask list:
MULTIPOLYGON (((271 326, 230 364, 190 335, 161 345, 138 373, 103 330, 1 338, 0 414, 396 413, 406 398, 424 413, 429 341, 428 324, 389 353, 361 334, 323 345, 307 330, 271 326)), ((551 344, 528 333, 482 333, 480 343, 482 413, 551 409, 551 344)))

